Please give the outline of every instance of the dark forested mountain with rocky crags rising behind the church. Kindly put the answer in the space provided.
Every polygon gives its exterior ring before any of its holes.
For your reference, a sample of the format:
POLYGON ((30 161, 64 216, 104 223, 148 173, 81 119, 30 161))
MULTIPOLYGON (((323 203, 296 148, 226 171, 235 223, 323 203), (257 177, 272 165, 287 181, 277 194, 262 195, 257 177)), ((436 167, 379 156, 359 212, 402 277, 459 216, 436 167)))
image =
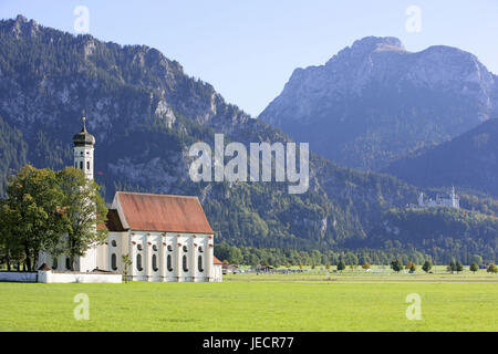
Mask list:
MULTIPOLYGON (((198 196, 217 242, 299 251, 384 249, 384 217, 417 197, 414 186, 395 177, 339 167, 315 154, 310 188, 301 195, 289 194, 287 183, 193 183, 189 147, 199 140, 212 147, 215 133, 246 146, 290 138, 225 102, 155 49, 74 37, 22 15, 0 21, 0 97, 1 186, 25 163, 72 166, 72 137, 84 110, 105 199, 116 190, 198 196)), ((459 220, 466 218, 461 214, 459 220)), ((484 230, 471 230, 478 250, 494 237, 484 230)), ((430 240, 417 237, 416 244, 430 252, 430 240)), ((456 236, 445 250, 459 242, 456 236)), ((393 244, 413 249, 405 241, 393 244)))

